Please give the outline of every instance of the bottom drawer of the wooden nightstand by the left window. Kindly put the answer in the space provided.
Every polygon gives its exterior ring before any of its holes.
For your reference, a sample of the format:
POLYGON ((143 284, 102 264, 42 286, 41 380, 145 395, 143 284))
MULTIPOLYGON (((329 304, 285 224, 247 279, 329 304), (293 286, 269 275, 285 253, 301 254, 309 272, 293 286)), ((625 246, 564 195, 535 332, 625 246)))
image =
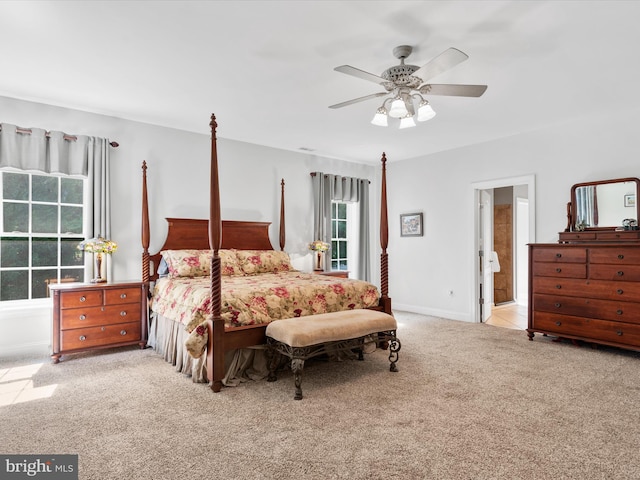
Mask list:
POLYGON ((64 330, 60 335, 63 351, 117 345, 140 340, 140 322, 64 330))

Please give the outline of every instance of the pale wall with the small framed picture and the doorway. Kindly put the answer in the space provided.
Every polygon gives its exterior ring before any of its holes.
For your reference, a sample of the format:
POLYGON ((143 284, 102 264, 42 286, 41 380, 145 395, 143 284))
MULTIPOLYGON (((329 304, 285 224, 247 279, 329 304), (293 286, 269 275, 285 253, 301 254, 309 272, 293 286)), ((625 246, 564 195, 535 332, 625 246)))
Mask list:
MULTIPOLYGON (((536 241, 557 242, 573 184, 640 176, 639 113, 637 106, 603 111, 598 118, 391 163, 389 290, 394 308, 473 321, 472 183, 535 175, 536 241), (400 237, 399 215, 416 211, 424 212, 424 236, 400 237)), ((393 152, 387 153, 393 158, 393 152)))

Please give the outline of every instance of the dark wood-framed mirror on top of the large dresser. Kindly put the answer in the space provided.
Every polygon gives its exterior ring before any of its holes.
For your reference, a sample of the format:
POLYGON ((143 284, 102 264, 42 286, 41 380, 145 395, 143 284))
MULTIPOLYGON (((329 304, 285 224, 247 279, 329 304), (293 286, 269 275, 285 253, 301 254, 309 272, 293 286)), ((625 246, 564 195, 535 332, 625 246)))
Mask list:
POLYGON ((637 178, 577 183, 571 187, 571 229, 637 229, 637 178))

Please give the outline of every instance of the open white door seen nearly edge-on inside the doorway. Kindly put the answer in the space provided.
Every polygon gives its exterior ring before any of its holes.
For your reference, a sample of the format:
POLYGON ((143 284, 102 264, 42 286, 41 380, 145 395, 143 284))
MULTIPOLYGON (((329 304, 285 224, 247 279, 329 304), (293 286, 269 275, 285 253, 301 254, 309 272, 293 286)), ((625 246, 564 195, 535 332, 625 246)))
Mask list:
POLYGON ((480 231, 478 265, 480 268, 480 308, 481 321, 491 316, 493 305, 493 270, 491 268, 491 251, 493 250, 493 190, 480 190, 479 202, 480 231))

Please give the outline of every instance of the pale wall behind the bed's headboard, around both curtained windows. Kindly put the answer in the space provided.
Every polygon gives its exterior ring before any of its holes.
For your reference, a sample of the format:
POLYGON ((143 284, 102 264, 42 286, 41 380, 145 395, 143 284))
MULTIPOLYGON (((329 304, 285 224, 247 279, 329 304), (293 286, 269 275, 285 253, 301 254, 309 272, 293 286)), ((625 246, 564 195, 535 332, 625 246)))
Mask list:
MULTIPOLYGON (((209 131, 210 112, 202 118, 209 131)), ((107 137, 120 146, 111 150, 113 280, 141 278, 141 164, 148 164, 151 246, 155 253, 166 235, 165 217, 208 218, 210 137, 32 102, 0 97, 0 122, 21 127, 60 130, 107 137)), ((313 240, 310 172, 322 171, 371 180, 371 231, 374 282, 378 281, 378 166, 342 162, 224 139, 218 118, 218 159, 222 218, 271 221, 270 236, 279 248, 280 179, 285 179, 286 246, 293 264, 311 270, 308 242, 313 240)), ((14 306, 15 307, 15 306, 14 306)), ((0 306, 0 356, 25 349, 47 350, 51 343, 50 300, 29 310, 0 306)))

